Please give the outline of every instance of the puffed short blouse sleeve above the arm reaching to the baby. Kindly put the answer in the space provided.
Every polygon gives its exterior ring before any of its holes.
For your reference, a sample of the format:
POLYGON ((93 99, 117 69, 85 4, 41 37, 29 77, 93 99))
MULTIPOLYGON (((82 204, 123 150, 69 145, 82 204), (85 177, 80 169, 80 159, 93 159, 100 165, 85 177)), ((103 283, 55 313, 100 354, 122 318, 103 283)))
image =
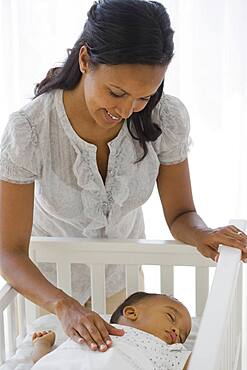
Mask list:
POLYGON ((13 113, 5 127, 0 147, 0 179, 29 184, 40 177, 41 158, 38 135, 29 118, 13 113))

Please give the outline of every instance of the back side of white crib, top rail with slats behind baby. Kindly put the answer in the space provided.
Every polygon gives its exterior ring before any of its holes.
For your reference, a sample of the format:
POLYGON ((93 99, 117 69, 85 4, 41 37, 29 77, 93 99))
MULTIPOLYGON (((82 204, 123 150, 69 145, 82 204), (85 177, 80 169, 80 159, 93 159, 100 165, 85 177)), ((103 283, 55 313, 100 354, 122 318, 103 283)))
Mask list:
MULTIPOLYGON (((30 256, 35 263, 54 262, 57 286, 71 294, 71 264, 85 263, 91 267, 92 308, 105 313, 105 265, 126 265, 126 296, 139 288, 141 265, 161 268, 161 292, 174 293, 174 266, 196 266, 196 316, 201 316, 209 290, 209 267, 216 264, 203 257, 195 247, 178 241, 110 240, 81 238, 33 237, 30 256)), ((36 317, 35 307, 29 317, 36 317)))

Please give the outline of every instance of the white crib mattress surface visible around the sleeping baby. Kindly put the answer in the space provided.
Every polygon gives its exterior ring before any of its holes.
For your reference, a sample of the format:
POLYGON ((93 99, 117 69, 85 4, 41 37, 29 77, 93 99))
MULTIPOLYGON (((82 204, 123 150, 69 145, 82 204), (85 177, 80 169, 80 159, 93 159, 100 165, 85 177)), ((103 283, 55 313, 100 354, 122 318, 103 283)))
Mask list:
MULTIPOLYGON (((109 315, 101 315, 106 321, 109 321, 109 315)), ((192 330, 191 333, 184 343, 184 346, 188 350, 192 350, 196 334, 198 332, 200 319, 193 318, 192 320, 192 330)), ((6 363, 0 366, 0 370, 30 370, 32 368, 31 354, 33 351, 32 345, 32 334, 34 331, 41 330, 54 330, 56 333, 55 346, 63 343, 67 336, 62 330, 61 324, 57 317, 53 314, 41 316, 36 319, 28 327, 28 334, 25 337, 25 340, 20 344, 14 356, 12 356, 6 363)))

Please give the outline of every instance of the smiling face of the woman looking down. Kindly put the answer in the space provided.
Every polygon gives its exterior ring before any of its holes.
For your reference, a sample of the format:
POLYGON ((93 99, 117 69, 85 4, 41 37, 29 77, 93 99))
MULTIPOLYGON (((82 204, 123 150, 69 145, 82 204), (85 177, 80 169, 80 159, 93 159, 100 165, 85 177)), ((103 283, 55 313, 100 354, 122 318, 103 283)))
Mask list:
MULTIPOLYGON (((83 59, 83 58, 82 58, 83 59)), ((87 118, 106 130, 121 127, 140 112, 161 85, 166 67, 141 64, 100 64, 90 69, 80 60, 80 86, 87 118)))

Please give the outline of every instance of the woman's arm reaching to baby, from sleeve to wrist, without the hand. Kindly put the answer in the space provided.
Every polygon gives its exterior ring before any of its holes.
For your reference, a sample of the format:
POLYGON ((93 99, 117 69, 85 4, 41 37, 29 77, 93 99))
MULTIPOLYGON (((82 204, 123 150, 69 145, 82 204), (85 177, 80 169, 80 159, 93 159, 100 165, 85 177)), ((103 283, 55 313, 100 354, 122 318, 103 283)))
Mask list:
POLYGON ((68 296, 53 286, 28 256, 33 222, 34 184, 0 181, 0 272, 18 292, 54 313, 68 296))

